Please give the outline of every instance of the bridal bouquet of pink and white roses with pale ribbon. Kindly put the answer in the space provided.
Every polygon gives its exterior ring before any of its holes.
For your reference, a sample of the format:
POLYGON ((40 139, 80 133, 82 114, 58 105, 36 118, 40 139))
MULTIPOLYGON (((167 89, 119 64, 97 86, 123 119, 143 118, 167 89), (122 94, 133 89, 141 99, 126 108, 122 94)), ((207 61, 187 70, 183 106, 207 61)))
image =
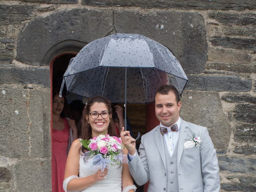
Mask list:
POLYGON ((120 165, 122 163, 122 142, 116 136, 99 135, 90 140, 80 140, 82 146, 88 151, 84 153, 84 159, 92 157, 94 165, 101 165, 101 171, 110 165, 120 165))

